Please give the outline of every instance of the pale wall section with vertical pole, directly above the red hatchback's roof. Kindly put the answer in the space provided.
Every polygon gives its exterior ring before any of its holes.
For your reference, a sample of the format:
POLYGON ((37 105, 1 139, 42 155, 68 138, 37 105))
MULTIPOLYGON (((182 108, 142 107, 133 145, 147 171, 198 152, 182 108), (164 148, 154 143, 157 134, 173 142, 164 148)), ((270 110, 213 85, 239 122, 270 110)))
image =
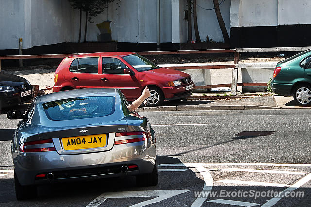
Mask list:
MULTIPOLYGON (((109 20, 112 39, 118 42, 157 42, 157 0, 114 1, 88 24, 87 41, 97 41, 96 24, 109 20), (118 3, 118 4, 117 4, 118 3), (108 16, 108 18, 107 18, 108 16)), ((171 42, 171 0, 161 0, 161 42, 171 42)))

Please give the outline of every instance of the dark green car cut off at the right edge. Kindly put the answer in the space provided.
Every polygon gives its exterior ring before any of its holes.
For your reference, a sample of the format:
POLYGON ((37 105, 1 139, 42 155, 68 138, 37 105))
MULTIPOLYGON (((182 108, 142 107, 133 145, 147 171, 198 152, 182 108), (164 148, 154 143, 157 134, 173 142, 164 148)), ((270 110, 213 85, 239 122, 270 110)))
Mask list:
POLYGON ((277 63, 271 88, 278 95, 293 96, 300 106, 310 106, 311 49, 277 63))

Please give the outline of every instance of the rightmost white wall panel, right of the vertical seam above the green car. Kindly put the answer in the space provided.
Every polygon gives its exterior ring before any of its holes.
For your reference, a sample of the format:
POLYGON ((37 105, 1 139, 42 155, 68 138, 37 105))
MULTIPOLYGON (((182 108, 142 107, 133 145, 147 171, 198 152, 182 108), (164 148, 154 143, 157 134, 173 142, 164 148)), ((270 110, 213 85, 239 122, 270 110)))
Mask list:
POLYGON ((311 24, 311 1, 278 0, 278 24, 311 24))

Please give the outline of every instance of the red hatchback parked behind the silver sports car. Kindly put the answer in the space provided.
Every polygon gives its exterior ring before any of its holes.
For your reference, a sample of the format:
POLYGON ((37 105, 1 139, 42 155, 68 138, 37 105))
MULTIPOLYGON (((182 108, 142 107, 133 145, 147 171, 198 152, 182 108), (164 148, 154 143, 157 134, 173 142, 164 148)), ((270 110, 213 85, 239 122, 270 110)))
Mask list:
POLYGON ((189 74, 155 63, 134 52, 99 52, 66 57, 55 72, 53 91, 79 88, 118 88, 134 101, 148 86, 149 106, 177 100, 192 93, 189 74))

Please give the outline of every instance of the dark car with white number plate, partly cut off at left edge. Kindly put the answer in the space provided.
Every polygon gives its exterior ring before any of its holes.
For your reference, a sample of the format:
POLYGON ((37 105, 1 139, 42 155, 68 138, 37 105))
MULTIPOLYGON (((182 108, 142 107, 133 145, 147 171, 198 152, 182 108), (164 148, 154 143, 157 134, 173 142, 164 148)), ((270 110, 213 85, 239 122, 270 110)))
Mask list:
POLYGON ((2 105, 2 108, 29 102, 32 98, 33 86, 29 81, 17 75, 0 72, 0 106, 2 105))

